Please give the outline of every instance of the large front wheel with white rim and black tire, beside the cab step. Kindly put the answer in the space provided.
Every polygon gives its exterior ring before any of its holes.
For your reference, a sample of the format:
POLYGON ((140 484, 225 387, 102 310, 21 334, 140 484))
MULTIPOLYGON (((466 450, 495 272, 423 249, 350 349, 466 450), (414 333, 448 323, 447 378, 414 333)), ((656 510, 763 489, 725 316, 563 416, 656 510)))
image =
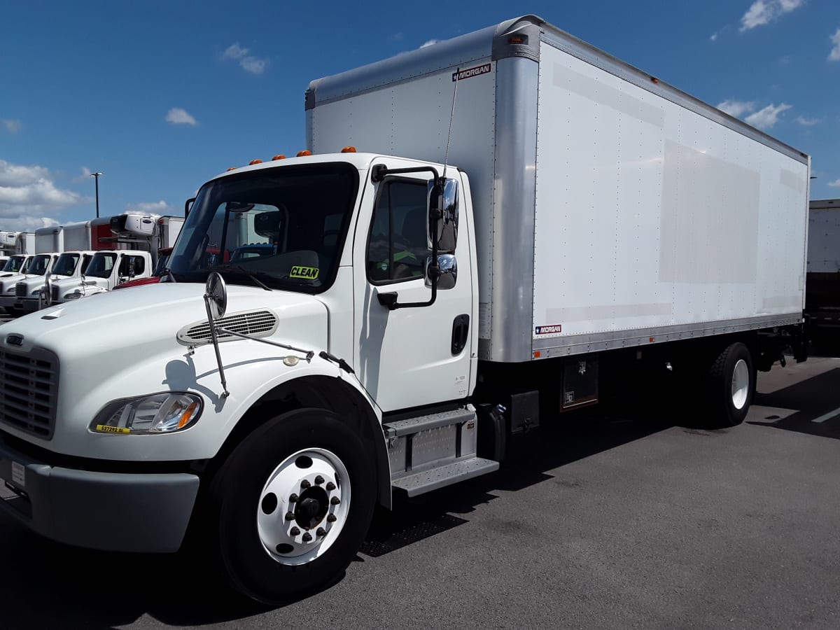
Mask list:
POLYGON ((375 505, 365 453, 354 431, 320 409, 275 417, 239 444, 211 487, 215 547, 236 590, 276 605, 340 575, 375 505))

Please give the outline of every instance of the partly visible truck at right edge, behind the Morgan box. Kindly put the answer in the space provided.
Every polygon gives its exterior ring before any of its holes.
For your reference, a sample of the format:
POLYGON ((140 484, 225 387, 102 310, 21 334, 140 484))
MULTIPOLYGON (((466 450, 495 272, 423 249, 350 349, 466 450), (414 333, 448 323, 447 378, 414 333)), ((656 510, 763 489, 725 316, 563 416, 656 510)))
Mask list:
POLYGON ((840 199, 811 199, 805 286, 809 339, 840 341, 840 199))

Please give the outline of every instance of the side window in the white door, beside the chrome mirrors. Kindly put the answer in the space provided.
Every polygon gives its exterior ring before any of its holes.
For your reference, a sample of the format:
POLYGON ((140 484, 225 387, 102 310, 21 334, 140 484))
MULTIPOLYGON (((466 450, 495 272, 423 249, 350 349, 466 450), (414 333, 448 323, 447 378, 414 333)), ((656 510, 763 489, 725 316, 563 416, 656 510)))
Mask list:
POLYGON ((422 277, 428 249, 425 181, 386 180, 379 188, 367 249, 371 282, 422 277))

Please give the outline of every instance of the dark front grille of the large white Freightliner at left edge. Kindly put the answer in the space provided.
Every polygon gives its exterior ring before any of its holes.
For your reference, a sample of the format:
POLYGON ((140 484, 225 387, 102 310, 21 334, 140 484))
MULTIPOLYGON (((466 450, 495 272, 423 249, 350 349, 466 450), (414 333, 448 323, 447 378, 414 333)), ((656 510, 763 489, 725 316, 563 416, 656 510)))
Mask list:
POLYGON ((0 423, 52 438, 58 407, 58 358, 48 350, 0 350, 0 423))

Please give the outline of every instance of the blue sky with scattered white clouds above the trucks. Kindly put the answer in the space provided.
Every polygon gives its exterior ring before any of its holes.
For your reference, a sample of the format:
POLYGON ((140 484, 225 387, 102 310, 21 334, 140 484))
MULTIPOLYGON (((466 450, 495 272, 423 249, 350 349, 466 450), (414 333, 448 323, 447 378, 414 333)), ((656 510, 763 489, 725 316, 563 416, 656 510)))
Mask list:
POLYGON ((838 0, 28 0, 0 10, 0 230, 93 218, 93 171, 102 216, 181 214, 305 148, 312 79, 522 13, 811 155, 811 197, 840 197, 838 0))

